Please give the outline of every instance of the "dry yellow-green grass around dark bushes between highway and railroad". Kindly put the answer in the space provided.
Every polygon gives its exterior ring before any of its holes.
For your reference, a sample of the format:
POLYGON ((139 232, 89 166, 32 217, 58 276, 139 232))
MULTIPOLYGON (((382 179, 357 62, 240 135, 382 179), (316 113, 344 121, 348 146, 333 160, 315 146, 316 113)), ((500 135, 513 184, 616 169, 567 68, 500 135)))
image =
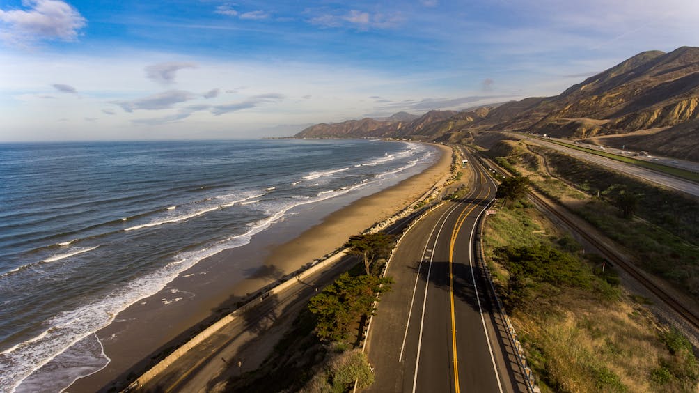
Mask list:
MULTIPOLYGON (((484 250, 499 290, 509 274, 493 262, 503 245, 557 246, 565 234, 533 208, 499 209, 487 220, 484 250)), ((585 264, 580 259, 581 264, 585 264)), ((542 392, 692 392, 697 371, 689 359, 678 359, 661 340, 665 330, 637 297, 621 292, 600 298, 595 290, 563 288, 511 311, 528 360, 542 392), (677 376, 668 379, 672 366, 677 376), (669 366, 668 366, 669 365, 669 366), (658 374, 659 373, 659 374, 658 374)))

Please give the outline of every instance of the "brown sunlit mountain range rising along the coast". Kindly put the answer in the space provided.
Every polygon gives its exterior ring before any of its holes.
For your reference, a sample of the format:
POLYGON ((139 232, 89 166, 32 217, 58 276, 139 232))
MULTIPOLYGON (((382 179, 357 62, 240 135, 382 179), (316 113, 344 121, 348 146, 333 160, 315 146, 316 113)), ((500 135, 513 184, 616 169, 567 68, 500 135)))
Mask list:
POLYGON ((470 141, 523 131, 699 161, 699 48, 642 52, 554 97, 315 124, 296 138, 470 141))

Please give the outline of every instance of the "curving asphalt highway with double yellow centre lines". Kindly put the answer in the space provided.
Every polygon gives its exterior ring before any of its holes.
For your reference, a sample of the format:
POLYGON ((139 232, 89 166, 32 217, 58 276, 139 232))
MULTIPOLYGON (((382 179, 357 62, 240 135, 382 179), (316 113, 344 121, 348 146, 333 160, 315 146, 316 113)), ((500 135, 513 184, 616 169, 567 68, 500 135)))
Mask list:
POLYGON ((526 391, 473 246, 496 185, 469 158, 466 197, 426 215, 394 250, 387 276, 395 283, 366 342, 375 372, 368 392, 526 391))

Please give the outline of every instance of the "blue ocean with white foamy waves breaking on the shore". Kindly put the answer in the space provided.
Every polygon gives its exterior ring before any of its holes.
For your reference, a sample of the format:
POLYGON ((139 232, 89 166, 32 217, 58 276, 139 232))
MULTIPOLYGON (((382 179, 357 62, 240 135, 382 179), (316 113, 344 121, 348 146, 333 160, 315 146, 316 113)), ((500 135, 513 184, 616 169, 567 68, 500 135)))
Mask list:
POLYGON ((94 333, 182 271, 437 157, 366 140, 0 145, 0 391, 99 371, 94 333))

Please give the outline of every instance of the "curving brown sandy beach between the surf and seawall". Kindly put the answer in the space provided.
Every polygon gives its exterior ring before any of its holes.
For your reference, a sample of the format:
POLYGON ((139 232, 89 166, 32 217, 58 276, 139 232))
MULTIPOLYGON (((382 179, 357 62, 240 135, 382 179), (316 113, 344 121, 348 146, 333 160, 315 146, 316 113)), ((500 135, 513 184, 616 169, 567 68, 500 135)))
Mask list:
POLYGON ((319 218, 311 221, 303 214, 292 215, 254 236, 249 244, 204 259, 157 294, 130 306, 97 333, 110 363, 77 380, 67 391, 108 389, 114 381, 136 375, 152 356, 192 334, 192 327, 217 319, 247 294, 336 250, 349 236, 409 206, 448 175, 451 150, 438 148, 441 157, 425 171, 351 203, 340 198, 315 206, 312 216, 319 218), (338 206, 343 207, 338 210, 338 206), (299 234, 298 227, 310 229, 299 234))

